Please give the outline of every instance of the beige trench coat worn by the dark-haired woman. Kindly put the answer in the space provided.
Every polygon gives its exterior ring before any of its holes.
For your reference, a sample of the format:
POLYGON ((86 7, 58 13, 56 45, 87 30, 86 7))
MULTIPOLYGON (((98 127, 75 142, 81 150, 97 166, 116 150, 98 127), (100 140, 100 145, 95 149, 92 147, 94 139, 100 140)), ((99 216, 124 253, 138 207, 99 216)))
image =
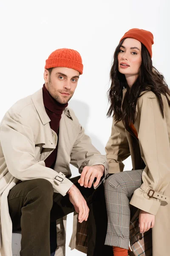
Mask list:
MULTIPOLYGON (((125 96, 126 89, 123 91, 125 96)), ((122 172, 122 163, 131 155, 133 169, 143 169, 143 184, 130 204, 156 215, 152 230, 153 256, 169 256, 170 241, 170 107, 162 96, 164 119, 154 93, 145 92, 136 105, 134 126, 139 141, 122 122, 113 119, 111 137, 106 145, 109 173, 122 172), (151 190, 150 190, 151 189, 151 190), (150 191, 150 192, 149 192, 150 191)))

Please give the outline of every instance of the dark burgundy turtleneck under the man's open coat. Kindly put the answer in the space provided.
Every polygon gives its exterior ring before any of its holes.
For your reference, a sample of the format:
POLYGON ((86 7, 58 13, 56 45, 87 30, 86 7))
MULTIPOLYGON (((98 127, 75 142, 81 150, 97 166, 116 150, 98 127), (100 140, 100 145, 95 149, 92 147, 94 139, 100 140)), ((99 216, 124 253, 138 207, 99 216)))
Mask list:
MULTIPOLYGON (((58 136, 59 135, 59 121, 61 119, 62 112, 68 106, 68 103, 60 104, 59 102, 57 102, 50 95, 50 93, 48 92, 48 90, 45 87, 45 84, 42 87, 42 96, 43 96, 45 111, 48 114, 48 117, 51 119, 50 127, 53 131, 56 132, 56 134, 58 136)), ((45 159, 46 167, 49 167, 52 169, 54 168, 54 164, 57 159, 57 147, 58 147, 58 141, 57 141, 57 146, 54 149, 54 151, 45 159)))

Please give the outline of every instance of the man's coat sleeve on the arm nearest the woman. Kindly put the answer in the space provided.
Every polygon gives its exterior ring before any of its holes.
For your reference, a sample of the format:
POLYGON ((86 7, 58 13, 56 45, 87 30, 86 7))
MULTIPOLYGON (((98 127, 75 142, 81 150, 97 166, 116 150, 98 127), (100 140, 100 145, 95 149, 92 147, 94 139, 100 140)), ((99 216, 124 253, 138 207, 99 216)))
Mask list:
POLYGON ((108 175, 106 156, 100 154, 92 145, 90 137, 85 134, 84 128, 80 124, 79 134, 71 151, 70 163, 79 169, 79 173, 82 172, 85 166, 103 165, 105 167, 105 177, 108 175))

